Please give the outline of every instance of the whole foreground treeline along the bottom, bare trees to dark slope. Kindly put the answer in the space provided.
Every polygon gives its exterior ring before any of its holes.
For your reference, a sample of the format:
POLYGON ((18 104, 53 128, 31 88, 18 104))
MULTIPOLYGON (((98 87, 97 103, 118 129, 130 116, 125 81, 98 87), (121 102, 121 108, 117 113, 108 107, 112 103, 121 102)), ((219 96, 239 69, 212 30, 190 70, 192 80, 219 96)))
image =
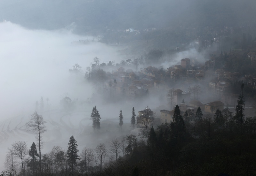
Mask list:
MULTIPOLYGON (((10 170, 2 174, 16 175, 19 166, 13 157, 18 156, 22 161, 19 175, 28 176, 256 175, 256 118, 245 117, 244 106, 243 92, 234 113, 228 107, 222 111, 212 107, 212 113, 205 114, 200 107, 181 112, 176 105, 172 122, 148 127, 146 137, 128 134, 110 139, 109 149, 108 144, 100 143, 95 149, 85 147, 79 151, 71 136, 67 151, 54 146, 42 154, 41 162, 34 142, 29 150, 25 142, 15 142, 5 162, 10 170)), ((134 125, 133 118, 131 122, 134 125)))

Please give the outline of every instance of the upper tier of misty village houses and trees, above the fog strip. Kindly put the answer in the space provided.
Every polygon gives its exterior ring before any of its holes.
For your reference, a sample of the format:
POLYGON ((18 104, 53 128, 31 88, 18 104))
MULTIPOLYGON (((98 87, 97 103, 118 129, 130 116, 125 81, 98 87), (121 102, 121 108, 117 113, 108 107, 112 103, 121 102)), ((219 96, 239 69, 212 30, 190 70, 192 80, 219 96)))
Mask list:
MULTIPOLYGON (((108 72, 107 75, 110 80, 117 80, 115 85, 116 93, 131 99, 142 97, 150 91, 165 91, 167 93, 170 89, 167 84, 168 79, 186 81, 208 78, 207 80, 211 80, 208 83, 208 92, 219 97, 225 104, 233 104, 233 100, 237 95, 227 94, 227 92, 230 87, 230 81, 237 80, 239 73, 225 72, 222 69, 215 71, 209 69, 214 67, 214 57, 211 57, 205 64, 201 65, 195 60, 192 60, 192 64, 190 64, 190 61, 189 58, 183 58, 180 65, 169 67, 167 71, 148 66, 135 74, 131 69, 125 71, 123 67, 119 67, 117 70, 113 70, 112 73, 108 72)), ((184 91, 183 94, 186 92, 184 91)))

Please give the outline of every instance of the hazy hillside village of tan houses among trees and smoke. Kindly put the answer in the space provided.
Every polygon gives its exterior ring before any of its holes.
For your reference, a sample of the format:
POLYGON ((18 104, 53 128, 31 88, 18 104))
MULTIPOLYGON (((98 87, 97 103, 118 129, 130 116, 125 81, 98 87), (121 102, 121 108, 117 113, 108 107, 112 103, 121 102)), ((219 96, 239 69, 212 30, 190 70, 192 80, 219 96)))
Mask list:
MULTIPOLYGON (((253 65, 256 54, 250 52, 248 58, 253 65)), ((180 65, 171 66, 167 70, 148 66, 139 72, 133 72, 132 69, 125 70, 121 66, 112 73, 106 73, 104 92, 111 94, 111 91, 115 91, 116 95, 130 100, 151 94, 164 94, 163 102, 169 99, 170 108, 158 112, 159 116, 156 118, 160 118, 160 123, 170 123, 176 104, 183 113, 188 109, 196 111, 200 106, 203 113, 213 114, 217 109, 222 111, 225 106, 231 109, 236 106, 239 94, 232 93, 231 86, 237 80, 243 80, 248 87, 256 89, 256 77, 242 77, 240 73, 231 73, 223 69, 214 70, 214 67, 214 57, 206 59, 203 64, 196 59, 183 58, 180 65), (205 94, 208 95, 208 100, 204 99, 205 94)))

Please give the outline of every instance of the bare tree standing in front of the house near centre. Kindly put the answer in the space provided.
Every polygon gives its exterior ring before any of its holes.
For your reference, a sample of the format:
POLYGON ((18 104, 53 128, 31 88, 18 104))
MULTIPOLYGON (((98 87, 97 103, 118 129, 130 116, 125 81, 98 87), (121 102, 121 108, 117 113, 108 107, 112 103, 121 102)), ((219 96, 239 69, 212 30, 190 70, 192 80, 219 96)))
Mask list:
POLYGON ((154 120, 154 114, 151 109, 146 106, 146 108, 142 111, 142 114, 137 119, 137 124, 141 125, 146 129, 146 134, 148 135, 148 127, 152 125, 154 120))

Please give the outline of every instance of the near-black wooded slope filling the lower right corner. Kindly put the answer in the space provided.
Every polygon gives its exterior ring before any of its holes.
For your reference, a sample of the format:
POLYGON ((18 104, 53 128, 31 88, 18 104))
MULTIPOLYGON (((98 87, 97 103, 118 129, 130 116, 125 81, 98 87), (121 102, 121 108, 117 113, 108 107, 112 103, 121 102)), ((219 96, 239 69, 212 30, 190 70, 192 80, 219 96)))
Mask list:
POLYGON ((233 115, 226 107, 212 114, 175 107, 172 123, 151 127, 117 164, 98 175, 255 175, 255 117, 233 115))

